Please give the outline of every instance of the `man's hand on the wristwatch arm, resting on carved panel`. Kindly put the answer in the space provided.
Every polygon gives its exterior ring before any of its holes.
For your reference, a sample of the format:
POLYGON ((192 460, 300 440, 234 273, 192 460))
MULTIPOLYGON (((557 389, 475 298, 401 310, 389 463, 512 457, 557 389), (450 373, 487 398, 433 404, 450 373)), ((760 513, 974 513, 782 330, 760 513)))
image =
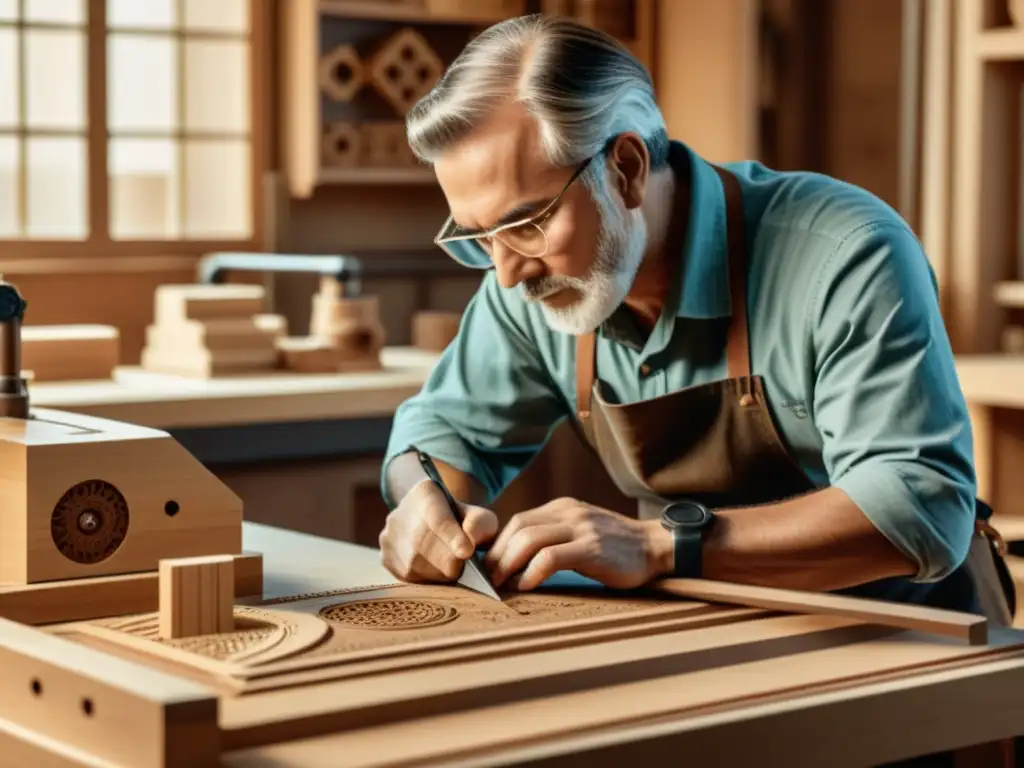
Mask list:
POLYGON ((531 590, 559 570, 612 589, 640 587, 672 569, 672 538, 660 522, 632 520, 574 499, 520 512, 484 558, 495 587, 531 590))

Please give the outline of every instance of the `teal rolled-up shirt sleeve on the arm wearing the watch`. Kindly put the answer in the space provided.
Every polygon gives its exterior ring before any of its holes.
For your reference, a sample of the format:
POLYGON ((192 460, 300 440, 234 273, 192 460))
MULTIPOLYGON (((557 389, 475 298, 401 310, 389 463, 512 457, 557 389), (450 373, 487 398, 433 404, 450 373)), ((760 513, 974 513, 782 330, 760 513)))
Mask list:
POLYGON ((831 485, 918 564, 967 557, 976 479, 967 403, 916 239, 862 228, 825 264, 810 305, 814 419, 831 485))

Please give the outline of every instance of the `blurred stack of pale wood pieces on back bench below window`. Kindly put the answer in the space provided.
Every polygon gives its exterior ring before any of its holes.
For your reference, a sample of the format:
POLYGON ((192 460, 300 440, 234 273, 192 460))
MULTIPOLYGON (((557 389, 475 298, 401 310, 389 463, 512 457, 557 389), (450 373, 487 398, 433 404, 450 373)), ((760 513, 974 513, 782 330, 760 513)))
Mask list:
POLYGON ((194 377, 278 368, 285 318, 265 314, 261 286, 161 286, 156 323, 146 329, 142 367, 194 377))

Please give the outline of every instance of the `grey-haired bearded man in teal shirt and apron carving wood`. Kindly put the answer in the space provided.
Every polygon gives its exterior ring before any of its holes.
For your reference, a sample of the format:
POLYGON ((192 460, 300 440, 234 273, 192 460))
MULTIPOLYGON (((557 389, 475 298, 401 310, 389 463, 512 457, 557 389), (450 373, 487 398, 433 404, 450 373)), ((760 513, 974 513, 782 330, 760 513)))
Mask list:
POLYGON ((709 164, 668 138, 644 68, 566 20, 481 34, 408 130, 451 207, 437 244, 489 271, 395 414, 391 572, 451 581, 489 544, 519 590, 675 574, 977 609, 967 407, 894 211, 709 164), (566 417, 638 518, 558 499, 499 530, 485 505, 566 417))

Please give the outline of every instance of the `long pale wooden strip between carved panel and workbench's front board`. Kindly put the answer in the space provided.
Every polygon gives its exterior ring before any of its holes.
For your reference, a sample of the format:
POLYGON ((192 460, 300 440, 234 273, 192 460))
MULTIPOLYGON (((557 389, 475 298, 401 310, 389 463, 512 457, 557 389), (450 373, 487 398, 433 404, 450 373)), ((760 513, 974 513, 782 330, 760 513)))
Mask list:
POLYGON ((380 725, 442 712, 717 669, 762 658, 861 643, 885 634, 829 616, 782 616, 559 648, 528 657, 407 670, 323 685, 241 696, 221 702, 225 746, 241 749, 344 728, 380 725))

